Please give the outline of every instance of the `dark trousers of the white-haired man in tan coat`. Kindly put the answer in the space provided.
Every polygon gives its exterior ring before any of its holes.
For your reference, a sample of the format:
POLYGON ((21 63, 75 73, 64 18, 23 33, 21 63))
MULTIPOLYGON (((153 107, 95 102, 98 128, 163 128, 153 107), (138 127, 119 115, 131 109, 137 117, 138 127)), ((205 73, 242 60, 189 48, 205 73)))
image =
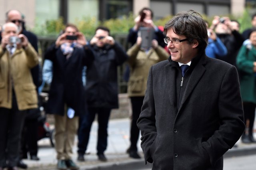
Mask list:
POLYGON ((19 160, 21 131, 26 111, 19 111, 13 93, 12 109, 0 108, 0 167, 17 166, 19 160))

